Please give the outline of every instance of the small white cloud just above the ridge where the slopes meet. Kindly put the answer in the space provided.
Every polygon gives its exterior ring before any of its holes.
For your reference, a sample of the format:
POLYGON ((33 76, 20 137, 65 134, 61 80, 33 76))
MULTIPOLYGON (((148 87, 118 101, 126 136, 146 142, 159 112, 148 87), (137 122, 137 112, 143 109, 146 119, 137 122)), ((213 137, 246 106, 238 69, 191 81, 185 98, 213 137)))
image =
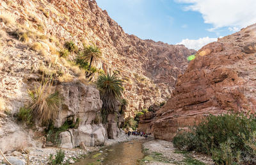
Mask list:
POLYGON ((188 38, 186 38, 186 39, 183 39, 181 42, 176 43, 176 45, 183 44, 186 47, 188 47, 188 49, 195 49, 196 51, 198 51, 207 43, 215 42, 217 40, 218 38, 209 38, 209 36, 206 36, 204 38, 199 38, 198 40, 189 40, 188 38))

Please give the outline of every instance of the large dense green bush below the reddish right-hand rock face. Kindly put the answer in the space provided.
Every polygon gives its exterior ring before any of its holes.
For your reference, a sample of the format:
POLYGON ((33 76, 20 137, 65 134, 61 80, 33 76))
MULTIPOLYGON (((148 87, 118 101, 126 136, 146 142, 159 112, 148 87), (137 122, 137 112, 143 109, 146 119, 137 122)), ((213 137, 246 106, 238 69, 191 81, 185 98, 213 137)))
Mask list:
POLYGON ((208 153, 218 164, 255 164, 255 132, 253 115, 209 115, 189 132, 179 132, 173 144, 180 149, 208 153))

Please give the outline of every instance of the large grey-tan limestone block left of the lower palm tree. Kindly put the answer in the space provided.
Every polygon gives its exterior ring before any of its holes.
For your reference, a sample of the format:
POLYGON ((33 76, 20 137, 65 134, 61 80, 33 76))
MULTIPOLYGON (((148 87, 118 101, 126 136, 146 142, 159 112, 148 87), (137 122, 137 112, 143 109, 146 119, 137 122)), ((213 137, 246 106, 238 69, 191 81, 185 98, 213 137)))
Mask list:
POLYGON ((81 83, 61 83, 56 87, 60 97, 61 109, 54 123, 56 127, 67 120, 69 116, 79 118, 79 125, 92 123, 102 107, 99 90, 81 83))

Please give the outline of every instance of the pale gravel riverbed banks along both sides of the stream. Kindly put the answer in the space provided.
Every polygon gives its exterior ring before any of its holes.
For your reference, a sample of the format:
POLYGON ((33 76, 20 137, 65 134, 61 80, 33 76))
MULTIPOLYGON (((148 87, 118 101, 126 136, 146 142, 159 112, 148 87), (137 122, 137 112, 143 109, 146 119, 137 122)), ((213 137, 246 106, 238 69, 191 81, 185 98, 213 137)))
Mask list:
MULTIPOLYGON (((200 155, 193 152, 183 153, 174 148, 172 142, 154 139, 150 136, 147 139, 141 136, 128 137, 127 134, 122 132, 117 139, 107 139, 104 147, 134 140, 143 141, 145 158, 140 161, 140 164, 187 164, 184 160, 188 159, 188 157, 189 159, 195 159, 204 164, 214 164, 212 159, 206 155, 200 155)), ((99 151, 100 149, 102 149, 102 146, 87 146, 85 150, 80 148, 61 148, 61 150, 65 152, 65 162, 70 164, 73 164, 78 159, 83 159, 84 155, 89 152, 99 151)), ((56 154, 56 151, 60 150, 60 148, 28 148, 28 150, 29 154, 12 152, 4 155, 8 159, 16 159, 17 161, 24 162, 24 164, 28 161, 28 157, 30 164, 47 164, 50 154, 56 154)), ((0 155, 0 162, 1 160, 4 162, 3 157, 0 155)))

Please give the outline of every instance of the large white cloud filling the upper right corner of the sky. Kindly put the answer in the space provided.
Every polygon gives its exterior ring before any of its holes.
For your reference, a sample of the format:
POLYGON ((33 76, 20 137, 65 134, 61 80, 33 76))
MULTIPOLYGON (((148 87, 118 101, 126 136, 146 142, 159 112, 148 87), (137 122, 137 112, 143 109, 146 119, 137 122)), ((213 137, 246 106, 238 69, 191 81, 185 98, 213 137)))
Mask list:
POLYGON ((237 31, 256 22, 255 0, 175 0, 188 4, 184 9, 202 13, 204 22, 212 24, 209 31, 228 27, 237 31))

